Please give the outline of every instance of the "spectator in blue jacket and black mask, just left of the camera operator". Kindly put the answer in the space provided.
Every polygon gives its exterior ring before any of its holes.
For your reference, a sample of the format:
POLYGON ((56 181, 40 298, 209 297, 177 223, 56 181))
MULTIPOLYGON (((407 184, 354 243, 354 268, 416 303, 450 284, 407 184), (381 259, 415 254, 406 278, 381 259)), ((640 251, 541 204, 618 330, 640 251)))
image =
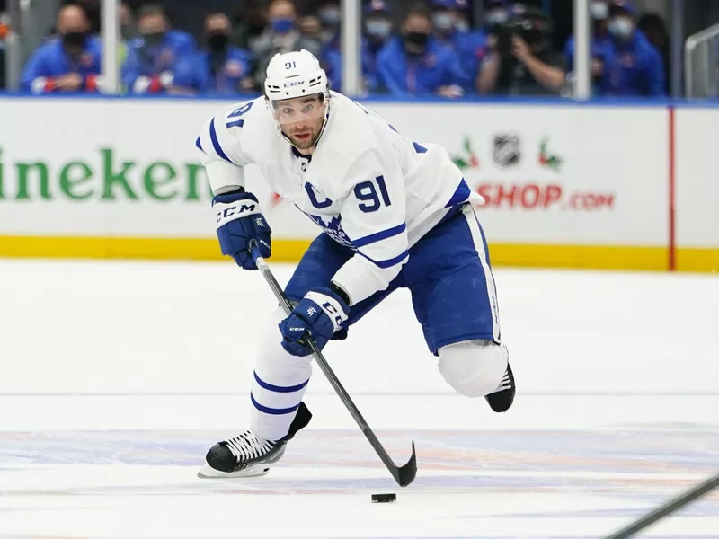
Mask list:
POLYGON ((377 75, 397 97, 464 94, 457 53, 431 37, 431 13, 423 5, 409 10, 401 36, 389 41, 377 55, 377 75))

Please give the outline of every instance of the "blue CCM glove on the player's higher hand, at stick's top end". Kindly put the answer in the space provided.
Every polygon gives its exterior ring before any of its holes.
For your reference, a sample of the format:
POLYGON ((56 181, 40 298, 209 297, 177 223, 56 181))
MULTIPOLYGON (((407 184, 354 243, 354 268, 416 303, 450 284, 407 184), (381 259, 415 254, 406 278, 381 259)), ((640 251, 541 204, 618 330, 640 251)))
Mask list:
POLYGON ((250 254, 250 241, 256 240, 263 258, 271 254, 270 225, 262 216, 252 193, 233 191, 212 199, 217 219, 217 239, 222 254, 231 256, 244 270, 257 270, 250 254))

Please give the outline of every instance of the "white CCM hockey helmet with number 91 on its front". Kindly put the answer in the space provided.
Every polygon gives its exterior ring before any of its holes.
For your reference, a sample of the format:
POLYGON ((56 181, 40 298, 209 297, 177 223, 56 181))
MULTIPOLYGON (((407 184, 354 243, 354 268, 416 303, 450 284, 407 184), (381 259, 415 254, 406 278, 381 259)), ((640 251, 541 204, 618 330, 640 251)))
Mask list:
MULTIPOLYGON (((264 81, 264 94, 267 108, 274 115, 277 102, 309 97, 321 94, 324 102, 324 124, 319 137, 324 132, 330 114, 330 88, 327 74, 320 66, 319 60, 306 49, 284 54, 277 53, 267 66, 267 78, 264 81)), ((277 122, 280 135, 289 140, 277 122)), ((291 141, 290 141, 291 142, 291 141)))

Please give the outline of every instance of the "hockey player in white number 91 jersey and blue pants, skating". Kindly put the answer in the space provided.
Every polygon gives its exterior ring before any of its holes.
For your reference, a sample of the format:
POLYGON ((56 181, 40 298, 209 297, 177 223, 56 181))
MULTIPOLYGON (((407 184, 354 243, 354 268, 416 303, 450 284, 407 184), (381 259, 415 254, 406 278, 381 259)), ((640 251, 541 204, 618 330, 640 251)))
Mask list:
POLYGON ((470 203, 482 198, 440 146, 399 134, 377 113, 331 92, 306 50, 278 54, 264 96, 209 119, 196 146, 214 193, 224 254, 256 270, 249 243, 271 254, 271 228, 244 190, 244 166, 323 230, 297 265, 263 329, 249 429, 213 446, 204 477, 263 475, 306 426, 309 335, 322 349, 399 287, 412 292, 439 372, 457 393, 507 411, 514 379, 500 340, 494 279, 470 203))

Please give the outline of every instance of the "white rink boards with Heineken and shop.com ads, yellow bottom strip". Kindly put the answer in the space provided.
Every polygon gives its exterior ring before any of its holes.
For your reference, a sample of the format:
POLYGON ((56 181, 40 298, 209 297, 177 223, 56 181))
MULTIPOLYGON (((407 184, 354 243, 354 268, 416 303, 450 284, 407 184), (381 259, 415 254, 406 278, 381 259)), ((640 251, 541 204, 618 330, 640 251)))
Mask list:
MULTIPOLYGON (((228 105, 0 101, 0 256, 218 260, 194 141, 228 105)), ((413 140, 447 148, 487 199, 478 212, 496 265, 719 267, 713 109, 672 118, 663 106, 367 105, 413 140)), ((318 230, 252 167, 247 177, 273 258, 297 261, 318 230)))

